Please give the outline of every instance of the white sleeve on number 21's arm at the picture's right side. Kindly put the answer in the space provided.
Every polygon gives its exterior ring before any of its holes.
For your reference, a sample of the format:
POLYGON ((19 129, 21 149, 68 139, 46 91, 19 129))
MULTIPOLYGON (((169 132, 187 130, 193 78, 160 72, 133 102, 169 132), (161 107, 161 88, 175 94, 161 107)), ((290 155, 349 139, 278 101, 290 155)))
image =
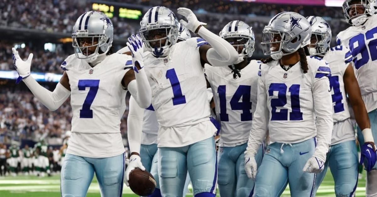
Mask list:
POLYGON ((313 85, 314 112, 316 113, 317 147, 314 156, 326 161, 326 153, 331 144, 333 132, 333 99, 329 92, 330 83, 327 77, 317 80, 313 85))

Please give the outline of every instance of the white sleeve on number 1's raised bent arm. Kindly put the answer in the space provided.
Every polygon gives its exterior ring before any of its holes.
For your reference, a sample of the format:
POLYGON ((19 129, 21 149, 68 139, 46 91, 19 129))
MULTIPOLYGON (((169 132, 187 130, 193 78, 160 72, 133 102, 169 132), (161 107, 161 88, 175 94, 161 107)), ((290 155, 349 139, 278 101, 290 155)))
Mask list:
POLYGON ((210 30, 200 27, 198 35, 207 41, 212 48, 207 51, 207 60, 213 66, 228 66, 238 60, 238 52, 234 47, 210 30))

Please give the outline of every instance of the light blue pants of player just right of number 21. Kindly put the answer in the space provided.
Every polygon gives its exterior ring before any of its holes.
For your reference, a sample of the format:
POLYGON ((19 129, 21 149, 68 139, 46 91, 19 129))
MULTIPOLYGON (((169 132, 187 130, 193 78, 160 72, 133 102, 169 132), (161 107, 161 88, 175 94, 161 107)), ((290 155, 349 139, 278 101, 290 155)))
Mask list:
POLYGON ((356 141, 345 141, 331 145, 327 153, 324 169, 317 174, 316 189, 325 178, 327 168, 330 167, 335 182, 337 197, 352 196, 357 187, 359 157, 357 156, 356 141))

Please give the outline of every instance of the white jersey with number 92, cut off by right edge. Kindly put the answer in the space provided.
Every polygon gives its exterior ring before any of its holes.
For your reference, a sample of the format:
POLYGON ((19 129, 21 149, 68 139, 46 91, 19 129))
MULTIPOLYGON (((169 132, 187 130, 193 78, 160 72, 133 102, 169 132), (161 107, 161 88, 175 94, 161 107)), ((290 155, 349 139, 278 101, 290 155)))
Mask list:
POLYGON ((371 112, 377 108, 377 15, 362 26, 351 26, 340 32, 337 44, 351 51, 354 70, 366 106, 371 112))

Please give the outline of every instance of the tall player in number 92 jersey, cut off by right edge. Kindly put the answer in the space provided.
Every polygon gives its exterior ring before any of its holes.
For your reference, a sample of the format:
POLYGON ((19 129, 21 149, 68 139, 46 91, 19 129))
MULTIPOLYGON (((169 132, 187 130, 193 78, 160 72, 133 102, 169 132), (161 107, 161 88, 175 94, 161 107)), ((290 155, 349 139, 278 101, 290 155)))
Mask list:
POLYGON ((343 12, 351 26, 337 35, 337 44, 348 47, 354 62, 354 72, 360 86, 361 95, 371 120, 372 135, 369 127, 363 129, 359 124, 357 136, 361 146, 361 155, 367 169, 366 196, 377 196, 377 165, 375 143, 377 139, 377 15, 375 0, 345 0, 343 12), (374 143, 372 141, 374 139, 374 143), (369 142, 369 143, 366 143, 369 142), (372 143, 370 143, 372 142, 372 143), (368 158, 368 159, 363 159, 368 158))

